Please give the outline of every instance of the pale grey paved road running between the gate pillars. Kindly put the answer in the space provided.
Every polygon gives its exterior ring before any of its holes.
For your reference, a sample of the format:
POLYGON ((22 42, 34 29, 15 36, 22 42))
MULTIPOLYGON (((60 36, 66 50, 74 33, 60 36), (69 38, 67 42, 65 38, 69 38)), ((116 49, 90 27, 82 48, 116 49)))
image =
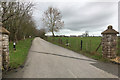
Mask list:
POLYGON ((24 68, 9 72, 11 78, 117 78, 118 66, 102 63, 51 44, 32 42, 24 68))

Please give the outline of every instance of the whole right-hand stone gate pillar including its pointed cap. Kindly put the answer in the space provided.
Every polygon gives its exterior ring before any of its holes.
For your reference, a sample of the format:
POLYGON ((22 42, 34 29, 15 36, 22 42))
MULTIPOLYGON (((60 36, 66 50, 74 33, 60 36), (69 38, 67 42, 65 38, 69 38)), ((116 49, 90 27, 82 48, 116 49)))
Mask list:
POLYGON ((115 58, 116 57, 116 45, 117 45, 117 34, 111 25, 108 29, 101 33, 102 36, 102 55, 104 58, 115 58))

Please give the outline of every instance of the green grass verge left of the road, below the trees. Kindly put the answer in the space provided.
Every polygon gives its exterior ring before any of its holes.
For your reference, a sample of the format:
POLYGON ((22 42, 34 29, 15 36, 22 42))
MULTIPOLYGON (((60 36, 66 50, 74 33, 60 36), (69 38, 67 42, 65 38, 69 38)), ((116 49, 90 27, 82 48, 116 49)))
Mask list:
POLYGON ((32 40, 33 39, 31 38, 18 41, 18 43, 16 44, 16 51, 13 50, 13 42, 9 43, 10 69, 18 68, 19 66, 24 64, 32 40))

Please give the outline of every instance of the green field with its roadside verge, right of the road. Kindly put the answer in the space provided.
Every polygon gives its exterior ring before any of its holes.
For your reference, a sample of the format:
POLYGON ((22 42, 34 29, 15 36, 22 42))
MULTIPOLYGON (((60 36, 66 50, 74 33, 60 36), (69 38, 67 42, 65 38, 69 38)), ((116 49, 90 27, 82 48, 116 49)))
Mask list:
POLYGON ((97 47, 101 43, 101 39, 101 37, 48 37, 47 41, 86 55, 93 59, 106 62, 108 60, 102 57, 102 47, 100 46, 100 48, 96 51, 97 47), (62 44, 60 43, 60 39, 62 40, 62 44), (67 40, 70 44, 69 46, 66 46, 67 40), (82 50, 81 40, 83 42, 82 50))

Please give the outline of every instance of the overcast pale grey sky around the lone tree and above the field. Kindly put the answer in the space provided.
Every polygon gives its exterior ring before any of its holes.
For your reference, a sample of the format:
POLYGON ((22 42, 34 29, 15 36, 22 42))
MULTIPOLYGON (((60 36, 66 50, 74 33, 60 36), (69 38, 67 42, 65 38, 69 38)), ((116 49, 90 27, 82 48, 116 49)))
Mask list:
POLYGON ((42 15, 49 6, 61 11, 65 23, 56 35, 81 35, 85 31, 101 35, 108 25, 118 31, 117 2, 36 2, 33 18, 39 29, 42 28, 42 15))

